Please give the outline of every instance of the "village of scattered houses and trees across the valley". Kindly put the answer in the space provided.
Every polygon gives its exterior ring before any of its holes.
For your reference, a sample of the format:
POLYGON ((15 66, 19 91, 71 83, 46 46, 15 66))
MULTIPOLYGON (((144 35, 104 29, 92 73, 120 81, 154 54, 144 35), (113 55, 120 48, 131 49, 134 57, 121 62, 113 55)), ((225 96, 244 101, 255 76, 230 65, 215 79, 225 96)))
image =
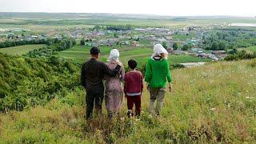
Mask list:
POLYGON ((46 34, 40 34, 28 29, 0 29, 0 42, 30 41, 33 39, 76 38, 85 46, 130 46, 133 48, 153 47, 161 43, 170 54, 188 54, 194 57, 208 58, 212 61, 226 57, 226 50, 204 50, 202 37, 211 27, 185 26, 183 28, 167 29, 162 27, 134 27, 131 30, 108 30, 103 26, 93 28, 62 28, 46 34))

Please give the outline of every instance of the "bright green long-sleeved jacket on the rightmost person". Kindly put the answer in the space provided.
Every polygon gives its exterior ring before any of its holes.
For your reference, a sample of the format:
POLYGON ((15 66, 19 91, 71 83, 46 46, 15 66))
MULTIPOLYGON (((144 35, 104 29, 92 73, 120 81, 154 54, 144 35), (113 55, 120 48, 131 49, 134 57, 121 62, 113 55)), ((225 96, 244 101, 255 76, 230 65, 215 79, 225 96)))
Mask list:
POLYGON ((162 88, 166 86, 166 78, 171 82, 169 62, 167 59, 155 61, 150 58, 146 64, 145 81, 150 83, 152 88, 162 88))

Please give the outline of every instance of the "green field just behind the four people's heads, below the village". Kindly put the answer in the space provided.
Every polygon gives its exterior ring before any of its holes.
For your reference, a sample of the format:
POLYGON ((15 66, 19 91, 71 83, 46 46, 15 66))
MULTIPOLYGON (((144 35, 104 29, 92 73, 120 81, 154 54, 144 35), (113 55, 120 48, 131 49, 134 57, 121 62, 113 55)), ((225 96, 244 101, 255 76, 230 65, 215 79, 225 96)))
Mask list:
MULTIPOLYGON (((111 49, 110 47, 102 46, 100 47, 100 50, 100 59, 103 62, 106 62, 106 59, 108 58, 111 49)), ((138 61, 138 66, 142 66, 153 54, 153 48, 148 47, 122 46, 119 47, 118 50, 120 51, 120 60, 121 62, 124 62, 124 65, 126 65, 126 62, 128 62, 130 58, 133 58, 138 61)), ((72 59, 78 63, 82 63, 85 60, 90 59, 90 47, 74 46, 73 48, 59 52, 58 56, 62 58, 72 59)), ((193 57, 190 55, 169 55, 170 64, 183 62, 203 62, 207 60, 208 59, 193 57)))

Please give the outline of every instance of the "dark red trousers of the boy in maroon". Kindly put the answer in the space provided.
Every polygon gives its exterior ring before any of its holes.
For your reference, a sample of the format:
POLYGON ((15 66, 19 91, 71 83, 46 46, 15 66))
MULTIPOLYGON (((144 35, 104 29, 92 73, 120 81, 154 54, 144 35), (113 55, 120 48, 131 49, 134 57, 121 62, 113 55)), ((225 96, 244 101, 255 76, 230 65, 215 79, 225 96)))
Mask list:
POLYGON ((133 107, 135 105, 135 114, 138 116, 141 114, 141 103, 141 95, 127 96, 128 110, 133 110, 133 107))

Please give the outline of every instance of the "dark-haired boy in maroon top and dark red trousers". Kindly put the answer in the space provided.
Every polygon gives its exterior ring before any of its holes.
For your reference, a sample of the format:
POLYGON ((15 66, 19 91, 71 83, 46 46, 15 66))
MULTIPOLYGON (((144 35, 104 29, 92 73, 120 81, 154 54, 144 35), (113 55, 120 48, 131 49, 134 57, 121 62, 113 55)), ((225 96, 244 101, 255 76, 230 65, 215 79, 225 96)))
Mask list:
POLYGON ((127 98, 127 115, 130 116, 133 114, 133 106, 135 105, 135 115, 138 117, 141 114, 141 96, 143 90, 143 76, 142 73, 138 70, 135 70, 137 67, 137 62, 133 59, 130 59, 128 62, 128 66, 130 67, 130 72, 125 75, 125 85, 124 85, 124 93, 127 98))

